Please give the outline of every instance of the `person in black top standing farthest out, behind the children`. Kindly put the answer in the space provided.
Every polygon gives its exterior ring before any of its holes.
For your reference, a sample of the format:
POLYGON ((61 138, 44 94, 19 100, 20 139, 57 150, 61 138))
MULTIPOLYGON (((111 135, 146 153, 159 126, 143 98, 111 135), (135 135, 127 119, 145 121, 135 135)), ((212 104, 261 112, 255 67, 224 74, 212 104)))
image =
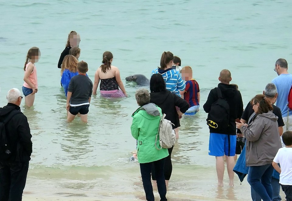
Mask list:
POLYGON ((80 36, 76 31, 71 31, 68 35, 68 40, 65 49, 61 53, 59 62, 58 62, 58 68, 61 68, 62 62, 64 60, 64 57, 68 54, 70 54, 70 49, 72 47, 79 47, 80 43, 80 36))

